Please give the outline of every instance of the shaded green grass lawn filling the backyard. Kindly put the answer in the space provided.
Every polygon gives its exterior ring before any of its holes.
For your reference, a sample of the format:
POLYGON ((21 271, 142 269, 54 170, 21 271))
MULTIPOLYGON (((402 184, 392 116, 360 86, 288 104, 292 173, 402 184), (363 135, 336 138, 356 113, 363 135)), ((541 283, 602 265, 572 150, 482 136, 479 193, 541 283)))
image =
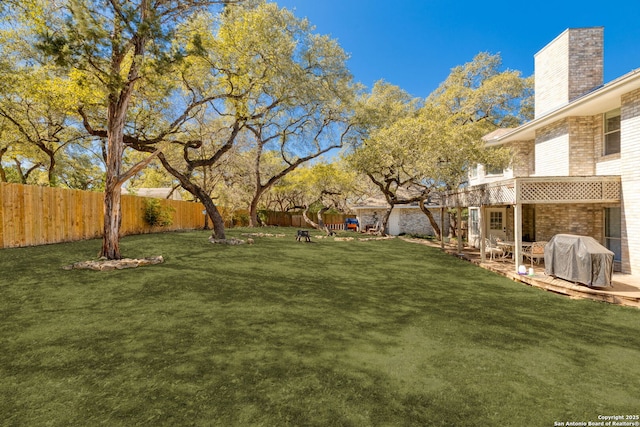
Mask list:
MULTIPOLYGON (((247 230, 229 231, 240 237, 247 230)), ((265 230, 259 230, 265 231, 265 230)), ((3 426, 553 426, 640 413, 640 310, 403 242, 0 250, 3 426)), ((266 230, 282 232, 282 230, 266 230)))

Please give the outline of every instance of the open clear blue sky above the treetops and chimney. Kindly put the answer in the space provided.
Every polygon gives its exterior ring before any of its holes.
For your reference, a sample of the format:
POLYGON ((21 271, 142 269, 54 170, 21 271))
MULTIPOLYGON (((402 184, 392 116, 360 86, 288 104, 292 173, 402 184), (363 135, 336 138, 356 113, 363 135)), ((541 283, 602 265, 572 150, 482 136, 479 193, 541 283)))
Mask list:
POLYGON ((355 79, 426 97, 479 52, 533 74, 533 56, 567 28, 604 27, 605 83, 640 68, 640 0, 276 0, 351 55, 355 79))

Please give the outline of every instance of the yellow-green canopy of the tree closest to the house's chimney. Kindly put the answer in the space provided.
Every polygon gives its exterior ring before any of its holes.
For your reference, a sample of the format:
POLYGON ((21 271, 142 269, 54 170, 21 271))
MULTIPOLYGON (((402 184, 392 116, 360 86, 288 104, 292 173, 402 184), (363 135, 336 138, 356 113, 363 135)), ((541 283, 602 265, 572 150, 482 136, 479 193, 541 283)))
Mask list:
POLYGON ((498 55, 477 55, 454 68, 423 105, 400 88, 376 84, 357 106, 364 131, 350 164, 398 201, 400 188, 423 196, 457 188, 476 163, 506 166, 509 152, 486 149, 482 137, 528 118, 532 80, 500 65, 498 55))

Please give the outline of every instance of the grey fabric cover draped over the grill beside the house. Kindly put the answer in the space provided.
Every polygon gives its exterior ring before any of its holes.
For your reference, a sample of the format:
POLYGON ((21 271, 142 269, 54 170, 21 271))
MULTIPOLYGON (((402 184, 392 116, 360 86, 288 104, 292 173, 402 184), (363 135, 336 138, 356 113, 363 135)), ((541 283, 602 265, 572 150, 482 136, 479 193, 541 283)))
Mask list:
POLYGON ((544 249, 545 273, 587 286, 611 286, 613 252, 596 239, 556 234, 544 249))

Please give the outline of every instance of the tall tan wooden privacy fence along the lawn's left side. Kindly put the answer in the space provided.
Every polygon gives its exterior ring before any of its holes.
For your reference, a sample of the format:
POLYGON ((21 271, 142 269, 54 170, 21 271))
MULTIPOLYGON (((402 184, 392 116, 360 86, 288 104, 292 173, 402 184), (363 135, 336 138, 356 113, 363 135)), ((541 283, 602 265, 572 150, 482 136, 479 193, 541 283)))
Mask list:
MULTIPOLYGON (((122 196, 121 235, 187 230, 204 225, 201 203, 157 199, 173 209, 173 224, 144 222, 145 197, 122 196)), ((0 183, 0 248, 98 238, 104 226, 104 194, 0 183)))

